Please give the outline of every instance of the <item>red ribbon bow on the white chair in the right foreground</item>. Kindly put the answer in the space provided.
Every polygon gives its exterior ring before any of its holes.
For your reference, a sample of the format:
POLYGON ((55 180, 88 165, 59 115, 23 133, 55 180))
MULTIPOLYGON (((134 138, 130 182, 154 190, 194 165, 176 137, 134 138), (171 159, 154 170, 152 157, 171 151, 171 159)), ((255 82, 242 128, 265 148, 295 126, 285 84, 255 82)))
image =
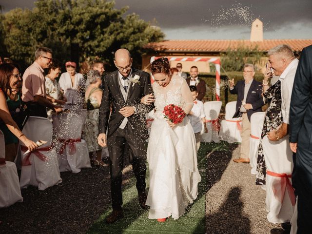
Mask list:
POLYGON ((292 175, 287 175, 286 173, 280 174, 280 173, 271 172, 271 171, 267 171, 267 175, 281 178, 280 183, 273 183, 273 193, 274 193, 275 198, 281 203, 283 203, 285 192, 287 189, 289 198, 292 202, 292 205, 294 206, 296 202, 296 198, 294 195, 294 189, 292 188, 292 184, 290 182, 290 178, 292 177, 292 175), (278 193, 279 187, 281 187, 280 193, 278 193))

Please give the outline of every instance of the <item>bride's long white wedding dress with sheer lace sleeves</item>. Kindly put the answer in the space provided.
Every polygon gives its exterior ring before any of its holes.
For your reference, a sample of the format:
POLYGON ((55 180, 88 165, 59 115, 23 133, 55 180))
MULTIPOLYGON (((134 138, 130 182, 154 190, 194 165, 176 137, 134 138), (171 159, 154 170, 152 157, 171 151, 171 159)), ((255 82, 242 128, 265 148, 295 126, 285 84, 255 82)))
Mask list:
POLYGON ((191 91, 184 78, 175 76, 166 87, 153 83, 155 110, 147 149, 150 188, 146 205, 149 218, 174 219, 197 197, 201 180, 197 169, 196 141, 188 117, 174 129, 169 127, 162 113, 168 104, 182 107, 188 114, 193 106, 191 91))

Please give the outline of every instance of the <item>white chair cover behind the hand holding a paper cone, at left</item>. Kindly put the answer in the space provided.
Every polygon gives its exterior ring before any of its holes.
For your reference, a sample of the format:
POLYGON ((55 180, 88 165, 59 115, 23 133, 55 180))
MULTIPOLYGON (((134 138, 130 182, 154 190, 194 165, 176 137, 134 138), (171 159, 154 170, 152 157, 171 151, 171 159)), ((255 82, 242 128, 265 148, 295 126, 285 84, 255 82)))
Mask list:
POLYGON ((25 165, 29 154, 24 155, 27 149, 23 149, 25 146, 20 141, 22 160, 20 188, 27 188, 28 185, 33 185, 38 187, 39 190, 45 190, 48 187, 61 183, 57 153, 55 149, 51 148, 51 121, 47 118, 31 116, 28 118, 22 132, 35 142, 44 140, 47 143, 40 146, 37 152, 31 153, 29 156, 31 165, 25 165), (43 155, 46 160, 40 159, 38 155, 43 155))

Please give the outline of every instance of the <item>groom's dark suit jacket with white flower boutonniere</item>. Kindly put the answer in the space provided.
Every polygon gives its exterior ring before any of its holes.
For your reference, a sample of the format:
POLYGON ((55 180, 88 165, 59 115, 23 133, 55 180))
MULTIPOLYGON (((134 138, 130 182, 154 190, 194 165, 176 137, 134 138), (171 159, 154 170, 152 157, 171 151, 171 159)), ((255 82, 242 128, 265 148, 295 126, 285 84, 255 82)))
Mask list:
POLYGON ((122 120, 124 119, 124 117, 119 114, 118 111, 125 106, 135 106, 137 109, 137 114, 128 117, 128 121, 133 126, 134 131, 137 132, 137 136, 143 137, 144 139, 148 138, 148 132, 145 124, 145 114, 150 112, 154 106, 142 104, 140 103, 140 100, 145 95, 153 93, 151 79, 148 73, 132 68, 131 77, 134 77, 135 75, 140 77, 140 83, 136 83, 134 85, 133 83, 129 83, 129 94, 126 101, 124 100, 120 91, 120 86, 118 83, 118 71, 112 72, 111 74, 105 76, 102 83, 103 95, 99 108, 99 134, 106 133, 108 126, 107 138, 112 136, 112 134, 117 130, 122 120), (113 110, 109 119, 111 103, 113 110))

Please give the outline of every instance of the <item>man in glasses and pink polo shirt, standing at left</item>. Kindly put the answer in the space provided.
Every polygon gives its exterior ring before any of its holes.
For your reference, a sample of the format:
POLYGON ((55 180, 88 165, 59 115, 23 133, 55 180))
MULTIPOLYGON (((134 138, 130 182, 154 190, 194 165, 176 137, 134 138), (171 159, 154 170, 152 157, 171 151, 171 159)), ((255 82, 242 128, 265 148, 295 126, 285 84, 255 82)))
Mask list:
POLYGON ((47 107, 62 112, 62 108, 50 102, 45 93, 43 69, 48 68, 52 62, 52 50, 39 47, 35 52, 35 59, 23 75, 22 100, 27 106, 27 115, 47 117, 47 107))

